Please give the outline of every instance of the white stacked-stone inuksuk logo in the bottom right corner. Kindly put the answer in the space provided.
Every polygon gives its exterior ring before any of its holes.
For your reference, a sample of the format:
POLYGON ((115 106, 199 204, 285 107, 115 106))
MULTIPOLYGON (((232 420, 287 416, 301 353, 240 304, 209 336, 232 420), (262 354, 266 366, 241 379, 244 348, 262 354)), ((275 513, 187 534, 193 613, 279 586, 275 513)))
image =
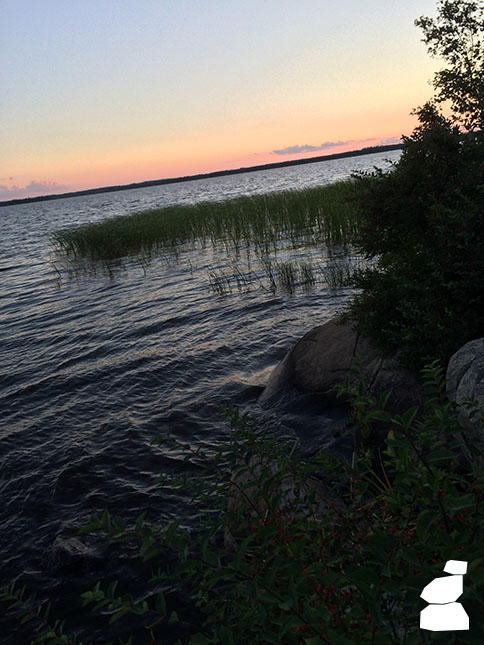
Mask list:
POLYGON ((433 632, 469 629, 469 616, 460 602, 455 602, 462 594, 466 571, 467 562, 449 560, 444 572, 452 575, 434 578, 425 587, 420 597, 431 604, 420 612, 420 629, 433 632))

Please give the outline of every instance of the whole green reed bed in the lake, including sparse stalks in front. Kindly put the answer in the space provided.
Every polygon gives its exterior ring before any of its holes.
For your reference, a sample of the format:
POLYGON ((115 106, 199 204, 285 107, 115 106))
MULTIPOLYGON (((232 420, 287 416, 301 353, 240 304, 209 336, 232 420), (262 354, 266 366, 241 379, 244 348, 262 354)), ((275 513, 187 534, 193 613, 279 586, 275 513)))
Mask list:
MULTIPOLYGON (((113 277, 133 263, 187 261, 208 251, 219 294, 252 286, 292 293, 316 283, 345 286, 360 266, 352 241, 359 224, 352 180, 224 201, 168 206, 55 231, 58 269, 113 277), (282 256, 282 258, 280 257, 282 256)), ((59 270, 59 273, 61 273, 59 270)))

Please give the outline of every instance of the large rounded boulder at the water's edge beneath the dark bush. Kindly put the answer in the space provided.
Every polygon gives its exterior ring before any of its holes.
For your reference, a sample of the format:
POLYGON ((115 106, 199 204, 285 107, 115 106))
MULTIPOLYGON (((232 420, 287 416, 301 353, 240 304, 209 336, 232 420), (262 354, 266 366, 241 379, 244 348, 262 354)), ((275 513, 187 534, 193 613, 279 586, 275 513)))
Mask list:
POLYGON ((357 358, 372 396, 378 398, 392 390, 389 411, 402 414, 409 407, 423 405, 418 375, 402 367, 398 352, 381 356, 367 338, 341 318, 315 327, 296 343, 271 374, 259 403, 263 407, 288 404, 313 393, 323 408, 341 405, 338 386, 353 375, 357 358))

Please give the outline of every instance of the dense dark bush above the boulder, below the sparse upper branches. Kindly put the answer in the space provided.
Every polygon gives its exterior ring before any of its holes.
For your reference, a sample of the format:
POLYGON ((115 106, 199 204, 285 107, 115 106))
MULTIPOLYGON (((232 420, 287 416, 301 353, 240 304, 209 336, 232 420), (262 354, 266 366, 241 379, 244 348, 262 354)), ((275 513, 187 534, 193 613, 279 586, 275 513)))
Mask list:
POLYGON ((484 332, 484 137, 463 137, 431 103, 417 114, 393 170, 356 177, 357 245, 374 262, 347 312, 413 368, 484 332))

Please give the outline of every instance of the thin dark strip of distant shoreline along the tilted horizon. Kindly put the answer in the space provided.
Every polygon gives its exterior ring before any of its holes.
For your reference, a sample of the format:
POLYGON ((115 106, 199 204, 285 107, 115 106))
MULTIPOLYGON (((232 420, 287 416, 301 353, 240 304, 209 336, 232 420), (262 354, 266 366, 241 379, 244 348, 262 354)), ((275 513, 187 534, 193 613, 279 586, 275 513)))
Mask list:
POLYGON ((134 190, 135 188, 150 188, 151 186, 163 186, 164 184, 176 184, 183 181, 195 181, 197 179, 211 179, 213 177, 225 177, 226 175, 238 175, 246 172, 257 172, 259 170, 272 170, 273 168, 285 168, 286 166, 299 166, 307 163, 317 163, 318 161, 331 161, 332 159, 343 159, 345 157, 359 157, 361 155, 376 154, 378 152, 390 152, 392 150, 401 150, 403 144, 397 143, 387 146, 372 146, 361 148, 360 150, 350 150, 348 152, 337 152, 331 155, 322 155, 320 157, 310 157, 309 159, 293 159, 290 161, 277 161, 275 163, 263 164, 261 166, 249 166, 247 168, 236 168, 234 170, 216 170, 199 175, 189 175, 186 177, 174 177, 170 179, 154 179, 142 181, 123 186, 105 186, 103 188, 89 188, 87 190, 78 190, 69 193, 59 193, 55 195, 40 195, 38 197, 22 197, 1 201, 2 206, 16 206, 17 204, 30 204, 32 202, 44 202, 52 199, 66 199, 68 197, 81 197, 83 195, 95 195, 96 193, 111 193, 118 190, 134 190))

